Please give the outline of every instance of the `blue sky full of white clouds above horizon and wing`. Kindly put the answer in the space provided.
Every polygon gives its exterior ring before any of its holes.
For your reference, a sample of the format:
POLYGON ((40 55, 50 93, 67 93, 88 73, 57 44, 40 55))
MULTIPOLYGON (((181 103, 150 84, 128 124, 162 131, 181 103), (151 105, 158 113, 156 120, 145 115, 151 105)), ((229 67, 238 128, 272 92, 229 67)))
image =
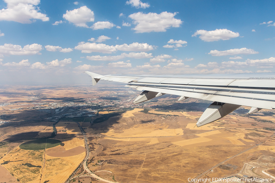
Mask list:
POLYGON ((0 1, 0 84, 274 72, 274 1, 0 1))

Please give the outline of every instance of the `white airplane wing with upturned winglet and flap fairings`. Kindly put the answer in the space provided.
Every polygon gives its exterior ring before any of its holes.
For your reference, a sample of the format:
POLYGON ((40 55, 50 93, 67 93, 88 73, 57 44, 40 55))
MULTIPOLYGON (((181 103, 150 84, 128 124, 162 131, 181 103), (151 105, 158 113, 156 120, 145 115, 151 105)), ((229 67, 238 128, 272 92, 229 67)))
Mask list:
POLYGON ((275 109, 275 73, 104 76, 86 73, 92 77, 93 85, 99 80, 117 81, 142 91, 134 104, 164 94, 178 95, 178 101, 189 97, 213 101, 198 120, 198 127, 218 120, 240 106, 251 107, 249 114, 261 109, 275 109))

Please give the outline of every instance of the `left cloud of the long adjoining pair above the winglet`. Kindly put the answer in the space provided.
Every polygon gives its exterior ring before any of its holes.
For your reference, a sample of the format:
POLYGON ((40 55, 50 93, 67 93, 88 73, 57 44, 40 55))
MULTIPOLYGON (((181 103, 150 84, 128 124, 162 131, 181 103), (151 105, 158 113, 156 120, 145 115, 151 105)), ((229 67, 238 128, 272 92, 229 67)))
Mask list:
POLYGON ((115 46, 109 46, 105 44, 97 44, 97 43, 85 43, 80 42, 77 46, 75 46, 76 50, 81 50, 82 53, 91 53, 91 52, 101 52, 101 53, 112 53, 116 52, 117 49, 115 46))

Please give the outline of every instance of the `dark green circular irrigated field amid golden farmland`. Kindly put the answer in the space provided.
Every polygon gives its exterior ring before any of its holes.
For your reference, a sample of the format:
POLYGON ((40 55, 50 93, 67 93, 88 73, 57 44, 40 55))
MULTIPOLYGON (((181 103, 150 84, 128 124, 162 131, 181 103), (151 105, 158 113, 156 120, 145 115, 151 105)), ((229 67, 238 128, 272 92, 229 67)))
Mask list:
POLYGON ((19 145, 21 149, 25 150, 41 150, 41 149, 48 149, 60 145, 61 141, 57 139, 39 139, 39 140, 32 140, 28 142, 24 142, 23 144, 19 145), (47 146, 46 146, 47 142, 47 146))

